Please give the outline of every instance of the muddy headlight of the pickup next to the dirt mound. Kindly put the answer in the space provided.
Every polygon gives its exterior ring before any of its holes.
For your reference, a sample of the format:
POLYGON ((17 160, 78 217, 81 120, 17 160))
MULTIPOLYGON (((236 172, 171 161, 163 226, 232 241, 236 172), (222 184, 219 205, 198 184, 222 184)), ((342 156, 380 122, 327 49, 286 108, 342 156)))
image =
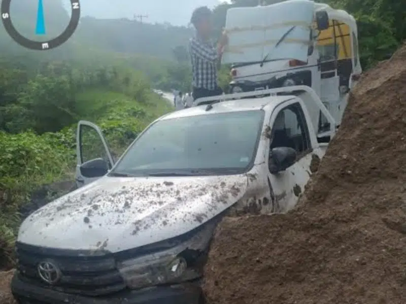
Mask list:
MULTIPOLYGON (((188 265, 183 253, 204 251, 208 246, 216 223, 206 224, 186 242, 170 249, 117 262, 117 268, 129 288, 139 289, 174 281, 188 281, 200 275, 188 265)), ((186 257, 188 258, 188 257, 186 257)))

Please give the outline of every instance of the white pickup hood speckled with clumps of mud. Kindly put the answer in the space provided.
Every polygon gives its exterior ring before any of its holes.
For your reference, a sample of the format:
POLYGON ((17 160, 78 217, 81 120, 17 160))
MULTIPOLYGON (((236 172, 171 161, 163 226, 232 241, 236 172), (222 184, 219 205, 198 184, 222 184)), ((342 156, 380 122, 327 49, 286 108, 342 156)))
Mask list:
POLYGON ((118 252, 187 233, 246 192, 243 175, 103 177, 32 213, 18 241, 49 248, 118 252))

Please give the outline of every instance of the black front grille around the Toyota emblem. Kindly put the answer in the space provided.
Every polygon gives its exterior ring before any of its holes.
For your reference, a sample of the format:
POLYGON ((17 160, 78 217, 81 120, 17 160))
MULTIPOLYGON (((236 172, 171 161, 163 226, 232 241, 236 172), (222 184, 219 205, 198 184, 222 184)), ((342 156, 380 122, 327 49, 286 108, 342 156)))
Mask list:
POLYGON ((125 288, 114 258, 110 255, 92 256, 82 252, 54 250, 41 247, 16 245, 17 269, 20 278, 31 284, 65 293, 88 296, 106 295, 125 288), (41 279, 38 264, 52 261, 61 272, 60 280, 50 285, 41 279))

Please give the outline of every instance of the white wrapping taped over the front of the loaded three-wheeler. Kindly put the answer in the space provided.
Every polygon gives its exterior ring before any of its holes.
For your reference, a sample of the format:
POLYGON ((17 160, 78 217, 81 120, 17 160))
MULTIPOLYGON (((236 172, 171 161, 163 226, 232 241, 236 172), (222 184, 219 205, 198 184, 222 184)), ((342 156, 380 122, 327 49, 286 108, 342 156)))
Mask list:
POLYGON ((258 62, 266 55, 268 60, 307 61, 314 5, 312 1, 291 0, 269 6, 228 9, 225 29, 229 45, 222 63, 258 62))

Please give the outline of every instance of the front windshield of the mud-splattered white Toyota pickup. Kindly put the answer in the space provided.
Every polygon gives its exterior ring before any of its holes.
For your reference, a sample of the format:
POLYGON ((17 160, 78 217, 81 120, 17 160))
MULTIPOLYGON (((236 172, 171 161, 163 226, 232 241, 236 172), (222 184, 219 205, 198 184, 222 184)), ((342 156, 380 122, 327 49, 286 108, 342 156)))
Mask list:
POLYGON ((161 120, 142 134, 111 176, 240 174, 252 166, 262 110, 161 120))

